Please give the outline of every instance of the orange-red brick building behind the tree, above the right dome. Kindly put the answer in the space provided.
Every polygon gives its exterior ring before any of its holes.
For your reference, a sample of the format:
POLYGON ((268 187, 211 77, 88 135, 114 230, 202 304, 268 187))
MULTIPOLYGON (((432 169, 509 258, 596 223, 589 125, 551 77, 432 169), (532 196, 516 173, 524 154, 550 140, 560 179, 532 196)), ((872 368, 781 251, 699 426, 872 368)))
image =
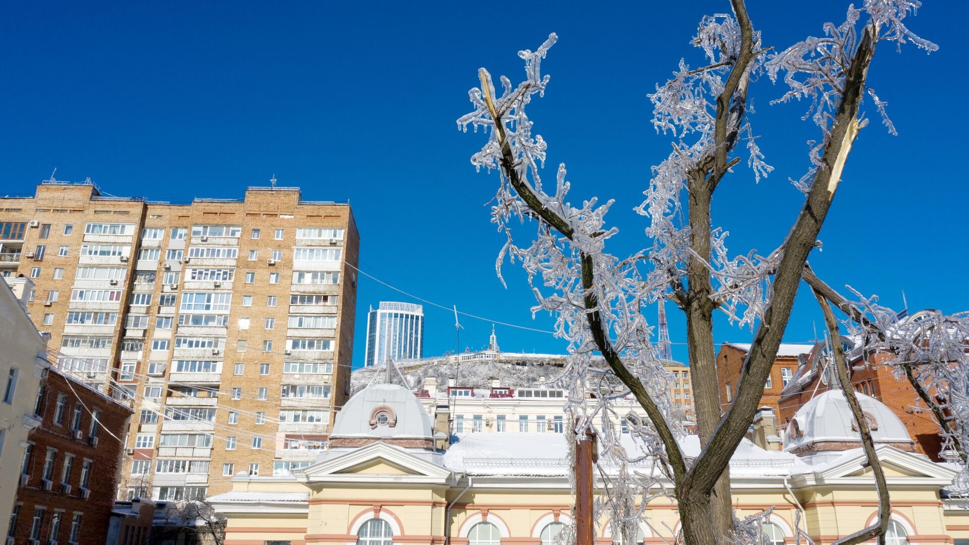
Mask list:
MULTIPOLYGON (((939 462, 942 437, 932 412, 925 407, 907 380, 896 379, 891 368, 883 365, 889 355, 875 354, 865 365, 863 356, 851 349, 850 340, 843 338, 842 341, 845 342, 854 389, 891 408, 915 441, 916 452, 939 462)), ((736 388, 739 369, 749 346, 725 342, 717 354, 717 374, 724 406, 731 399, 730 389, 736 388)), ((761 406, 770 407, 777 415, 778 429, 786 429, 798 408, 830 389, 831 382, 836 378, 831 374, 833 371, 826 365, 827 362, 828 355, 822 344, 781 345, 761 401, 761 406)))

